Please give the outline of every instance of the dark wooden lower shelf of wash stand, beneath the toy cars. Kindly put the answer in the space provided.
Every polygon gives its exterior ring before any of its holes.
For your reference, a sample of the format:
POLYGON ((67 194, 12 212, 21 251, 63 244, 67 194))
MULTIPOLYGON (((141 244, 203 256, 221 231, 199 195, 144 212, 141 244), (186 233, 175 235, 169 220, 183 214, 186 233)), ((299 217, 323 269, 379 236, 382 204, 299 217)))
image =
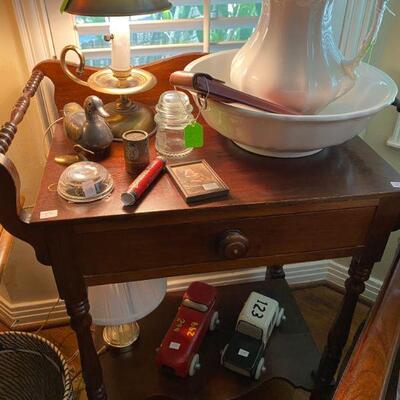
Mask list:
POLYGON ((284 279, 218 288, 221 324, 209 332, 200 348, 201 369, 182 379, 165 375, 155 364, 155 349, 172 322, 182 293, 170 293, 160 307, 140 321, 140 339, 130 351, 101 356, 110 400, 167 398, 176 400, 238 399, 273 378, 305 390, 313 388, 312 370, 320 359, 300 310, 284 279), (219 363, 239 312, 251 291, 276 298, 285 307, 286 321, 276 328, 266 349, 266 372, 259 381, 231 372, 219 363))

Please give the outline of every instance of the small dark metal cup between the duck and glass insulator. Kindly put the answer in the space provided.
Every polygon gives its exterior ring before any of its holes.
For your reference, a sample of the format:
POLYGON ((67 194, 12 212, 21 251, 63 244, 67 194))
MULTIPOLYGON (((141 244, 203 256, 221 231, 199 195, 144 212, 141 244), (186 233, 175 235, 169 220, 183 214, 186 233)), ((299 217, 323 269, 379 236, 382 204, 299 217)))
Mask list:
POLYGON ((138 175, 149 164, 149 134, 133 129, 122 134, 125 169, 128 174, 138 175))

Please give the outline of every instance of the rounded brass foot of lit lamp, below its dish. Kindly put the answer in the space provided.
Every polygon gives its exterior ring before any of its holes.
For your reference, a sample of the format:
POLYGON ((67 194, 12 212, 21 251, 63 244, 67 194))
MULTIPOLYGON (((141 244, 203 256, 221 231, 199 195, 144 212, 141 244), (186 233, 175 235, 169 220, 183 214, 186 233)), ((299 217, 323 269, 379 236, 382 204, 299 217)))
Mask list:
POLYGON ((107 122, 115 140, 121 140, 122 134, 131 129, 146 131, 149 135, 156 131, 153 110, 143 104, 132 102, 126 96, 106 104, 104 108, 110 114, 107 122))

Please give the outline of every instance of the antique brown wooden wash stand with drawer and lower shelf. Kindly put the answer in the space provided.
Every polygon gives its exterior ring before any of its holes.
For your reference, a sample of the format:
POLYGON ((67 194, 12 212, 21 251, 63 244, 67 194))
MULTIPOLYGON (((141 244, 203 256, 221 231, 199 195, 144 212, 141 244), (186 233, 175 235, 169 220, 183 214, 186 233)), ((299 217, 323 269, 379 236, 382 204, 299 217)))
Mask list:
MULTIPOLYGON (((145 66, 158 84, 135 100, 155 105, 159 95, 171 89, 170 73, 199 56, 182 55, 145 66)), ((87 68, 83 78, 93 71, 87 68)), ((132 178, 124 170, 122 148, 116 143, 103 163, 114 178, 114 192, 102 201, 76 205, 54 191, 64 170, 53 161, 54 156, 71 152, 59 125, 34 211, 28 215, 20 206, 18 173, 6 152, 44 76, 55 85, 58 110, 93 94, 65 77, 57 61, 35 68, 11 122, 0 133, 0 223, 30 243, 38 260, 52 267, 78 337, 89 398, 106 399, 107 394, 113 400, 251 398, 257 386, 273 377, 310 391, 316 388, 313 396, 318 398, 319 389, 334 379, 364 283, 380 260, 389 234, 399 227, 400 190, 391 182, 399 182, 400 176, 359 138, 312 157, 284 160, 247 153, 206 127, 205 147, 189 159, 205 158, 211 164, 230 187, 227 198, 188 206, 165 174, 136 207, 124 209, 120 194, 132 178), (54 210, 56 216, 41 218, 46 215, 41 213, 53 211, 54 215, 54 210), (286 281, 279 279, 284 278, 281 266, 346 256, 353 257, 346 293, 321 357, 286 281), (269 266, 264 282, 219 289, 221 327, 206 338, 200 352, 204 368, 195 377, 166 376, 154 363, 155 348, 179 302, 176 294, 168 295, 143 320, 141 339, 131 352, 109 352, 99 360, 90 331, 88 285, 261 265, 269 266), (278 298, 288 317, 271 338, 267 372, 260 382, 219 366, 219 351, 251 290, 278 298)))

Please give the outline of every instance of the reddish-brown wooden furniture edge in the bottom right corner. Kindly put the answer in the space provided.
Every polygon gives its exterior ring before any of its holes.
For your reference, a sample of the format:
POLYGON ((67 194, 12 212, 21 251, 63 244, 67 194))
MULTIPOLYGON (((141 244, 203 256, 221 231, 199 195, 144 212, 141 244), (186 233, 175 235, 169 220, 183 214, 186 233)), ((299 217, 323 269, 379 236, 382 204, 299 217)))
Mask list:
POLYGON ((392 375, 394 385, 399 383, 399 371, 393 371, 399 350, 400 253, 357 341, 334 400, 395 400, 387 397, 387 391, 392 375))

